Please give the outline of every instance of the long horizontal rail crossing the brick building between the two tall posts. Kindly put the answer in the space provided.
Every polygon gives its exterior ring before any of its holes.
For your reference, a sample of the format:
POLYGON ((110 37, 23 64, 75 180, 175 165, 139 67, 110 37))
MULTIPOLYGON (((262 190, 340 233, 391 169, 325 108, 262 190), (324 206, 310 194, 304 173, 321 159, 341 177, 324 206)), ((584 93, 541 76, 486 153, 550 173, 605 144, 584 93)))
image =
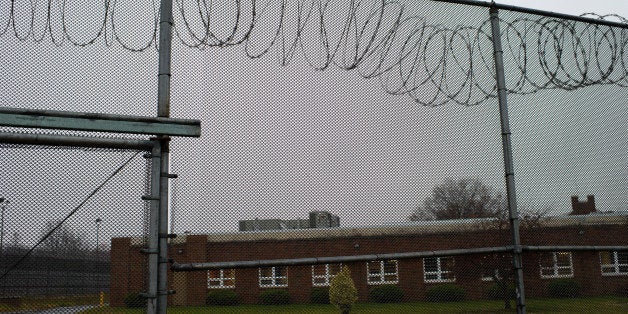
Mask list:
POLYGON ((327 256, 327 257, 212 262, 212 263, 189 263, 189 264, 173 263, 171 266, 171 269, 173 271, 195 271, 195 270, 208 270, 208 269, 299 266, 299 265, 316 265, 316 264, 330 264, 330 263, 368 262, 368 261, 375 261, 375 260, 425 258, 425 257, 435 257, 435 256, 503 253, 503 252, 510 252, 510 251, 512 251, 511 246, 499 246, 499 247, 486 247, 486 248, 385 253, 385 254, 366 254, 366 255, 349 255, 349 256, 327 256))

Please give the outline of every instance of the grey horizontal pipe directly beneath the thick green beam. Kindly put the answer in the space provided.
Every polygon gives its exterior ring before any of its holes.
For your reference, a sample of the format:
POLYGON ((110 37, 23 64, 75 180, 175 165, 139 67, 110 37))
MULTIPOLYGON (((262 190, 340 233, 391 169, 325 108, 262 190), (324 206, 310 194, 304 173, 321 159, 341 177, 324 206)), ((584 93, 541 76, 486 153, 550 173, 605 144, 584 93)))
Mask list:
POLYGON ((22 134, 0 132, 0 144, 49 145, 148 150, 156 142, 146 140, 98 138, 50 134, 22 134))

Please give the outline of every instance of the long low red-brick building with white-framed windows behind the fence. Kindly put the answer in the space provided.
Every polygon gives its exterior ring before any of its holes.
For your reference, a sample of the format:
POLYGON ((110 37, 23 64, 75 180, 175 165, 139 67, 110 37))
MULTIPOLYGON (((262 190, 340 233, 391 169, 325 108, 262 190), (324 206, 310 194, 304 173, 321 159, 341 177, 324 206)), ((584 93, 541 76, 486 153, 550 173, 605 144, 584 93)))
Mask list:
MULTIPOLYGON (((628 215, 593 214, 546 217, 521 229, 526 246, 627 246, 628 215)), ((344 262, 351 270, 359 300, 369 289, 398 285, 406 301, 423 300, 425 291, 442 283, 463 287, 472 299, 486 297, 495 272, 508 272, 510 256, 499 253, 412 257, 409 252, 503 247, 510 231, 503 221, 462 219, 414 222, 363 228, 330 228, 187 235, 174 239, 169 256, 177 263, 256 261, 315 257, 361 258, 344 262), (394 256, 394 259, 385 254, 394 256)), ((145 257, 138 239, 112 241, 111 305, 144 287, 145 257)), ((313 288, 327 286, 339 265, 318 264, 266 268, 214 269, 171 273, 176 294, 169 304, 201 305, 211 289, 234 289, 243 303, 256 303, 264 289, 286 289, 292 301, 309 302, 313 288)), ((554 278, 573 278, 586 295, 616 294, 628 289, 627 251, 525 251, 527 296, 543 296, 554 278)), ((505 274, 499 274, 503 276, 505 274)))

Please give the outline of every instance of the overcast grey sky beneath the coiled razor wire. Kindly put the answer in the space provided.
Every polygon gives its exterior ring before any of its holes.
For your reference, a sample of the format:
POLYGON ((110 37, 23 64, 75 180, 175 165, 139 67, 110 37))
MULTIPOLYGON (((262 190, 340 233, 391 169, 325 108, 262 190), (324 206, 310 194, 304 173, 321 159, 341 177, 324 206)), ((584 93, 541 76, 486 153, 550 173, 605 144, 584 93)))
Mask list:
MULTIPOLYGON (((628 2, 620 0, 508 3, 628 16, 628 2)), ((473 17, 477 24, 485 14, 478 10, 452 10, 444 18, 473 17)), ((2 106, 156 113, 154 49, 133 53, 102 42, 57 48, 8 35, 0 42, 2 106)), ((174 232, 235 231, 239 219, 305 218, 310 210, 338 214, 343 226, 396 223, 448 177, 478 177, 504 190, 494 100, 423 107, 383 93, 377 79, 355 71, 315 71, 298 54, 282 67, 276 51, 251 60, 243 50, 173 47, 172 115, 203 123, 202 138, 173 140, 174 232)), ((626 209, 626 99, 626 88, 617 86, 510 98, 521 206, 564 213, 571 195, 595 194, 600 210, 626 209)), ((13 200, 9 235, 27 228, 26 221, 37 229, 68 212, 128 156, 52 154, 65 166, 46 170, 46 154, 7 151, 0 150, 0 161, 12 170, 0 179, 0 196, 13 200), (102 170, 84 171, 92 167, 102 170), (34 195, 28 189, 48 182, 37 173, 56 181, 34 195)), ((132 169, 143 171, 142 161, 132 169)), ((92 230, 92 216, 103 216, 107 235, 141 232, 142 173, 136 174, 128 174, 133 187, 118 181, 118 189, 90 205, 77 227, 92 230)))

